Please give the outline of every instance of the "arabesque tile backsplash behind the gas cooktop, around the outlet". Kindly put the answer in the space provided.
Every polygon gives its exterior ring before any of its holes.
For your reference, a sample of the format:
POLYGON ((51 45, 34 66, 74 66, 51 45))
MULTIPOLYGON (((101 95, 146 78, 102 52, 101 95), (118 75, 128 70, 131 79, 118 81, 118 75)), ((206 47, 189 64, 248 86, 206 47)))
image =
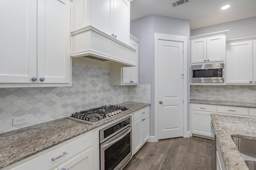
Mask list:
POLYGON ((109 68, 72 64, 72 86, 0 88, 0 133, 122 102, 150 103, 150 85, 110 86, 109 68), (12 118, 28 123, 12 126, 12 118))

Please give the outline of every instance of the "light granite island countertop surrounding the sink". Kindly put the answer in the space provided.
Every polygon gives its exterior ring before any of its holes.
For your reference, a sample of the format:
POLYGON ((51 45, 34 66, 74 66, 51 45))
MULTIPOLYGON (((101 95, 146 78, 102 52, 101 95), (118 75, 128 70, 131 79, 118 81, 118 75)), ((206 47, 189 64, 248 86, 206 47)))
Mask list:
POLYGON ((227 170, 249 170, 231 135, 256 139, 256 118, 211 114, 227 170))

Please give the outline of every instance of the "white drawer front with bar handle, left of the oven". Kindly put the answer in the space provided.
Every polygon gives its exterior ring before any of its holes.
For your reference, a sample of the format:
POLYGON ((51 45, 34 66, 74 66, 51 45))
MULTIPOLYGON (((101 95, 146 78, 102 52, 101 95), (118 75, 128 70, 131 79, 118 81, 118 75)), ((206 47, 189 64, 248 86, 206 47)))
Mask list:
MULTIPOLYGON (((10 169, 34 170, 35 167, 37 167, 37 170, 52 169, 65 162, 66 160, 79 154, 83 150, 92 147, 92 137, 92 133, 89 133, 87 135, 80 135, 78 137, 75 137, 74 139, 70 139, 64 143, 61 143, 52 148, 39 152, 38 154, 30 156, 27 159, 21 160, 21 164, 17 162, 18 166, 12 166, 13 168, 10 169), (64 152, 67 152, 67 154, 64 154, 64 152), (57 159, 52 161, 52 158, 57 159)), ((9 169, 8 166, 6 168, 9 169)))

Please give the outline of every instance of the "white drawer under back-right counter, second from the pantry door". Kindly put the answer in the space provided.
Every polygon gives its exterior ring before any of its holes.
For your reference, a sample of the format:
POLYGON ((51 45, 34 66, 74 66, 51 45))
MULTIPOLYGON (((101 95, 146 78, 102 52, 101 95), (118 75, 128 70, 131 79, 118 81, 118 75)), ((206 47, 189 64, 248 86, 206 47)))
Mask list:
POLYGON ((218 113, 229 113, 235 115, 248 115, 248 108, 234 106, 217 106, 218 113))

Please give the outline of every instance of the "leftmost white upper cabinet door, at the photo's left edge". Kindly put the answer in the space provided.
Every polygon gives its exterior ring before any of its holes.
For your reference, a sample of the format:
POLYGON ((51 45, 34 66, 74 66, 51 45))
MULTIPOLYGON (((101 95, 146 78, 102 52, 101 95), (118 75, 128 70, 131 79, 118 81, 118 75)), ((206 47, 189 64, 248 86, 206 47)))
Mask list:
POLYGON ((0 83, 34 83, 36 9, 36 0, 1 1, 0 83))

